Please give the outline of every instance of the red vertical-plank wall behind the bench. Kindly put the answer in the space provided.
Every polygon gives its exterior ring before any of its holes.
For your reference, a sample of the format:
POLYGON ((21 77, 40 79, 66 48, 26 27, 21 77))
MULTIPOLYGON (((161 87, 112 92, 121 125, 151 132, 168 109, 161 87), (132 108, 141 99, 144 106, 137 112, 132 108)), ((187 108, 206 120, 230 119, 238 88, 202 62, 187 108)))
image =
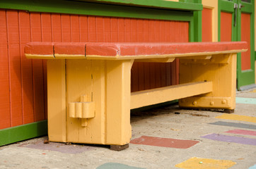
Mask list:
MULTIPOLYGON (((28 42, 188 42, 189 23, 0 10, 0 130, 47 119, 46 62, 28 42)), ((134 63, 132 92, 178 84, 178 61, 134 63)))

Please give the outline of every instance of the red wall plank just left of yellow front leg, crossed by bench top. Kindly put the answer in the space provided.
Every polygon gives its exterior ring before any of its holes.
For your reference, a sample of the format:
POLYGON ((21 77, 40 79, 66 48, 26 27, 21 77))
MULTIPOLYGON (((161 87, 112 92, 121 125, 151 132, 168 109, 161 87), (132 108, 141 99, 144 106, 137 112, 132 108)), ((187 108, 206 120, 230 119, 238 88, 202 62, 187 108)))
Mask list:
MULTIPOLYGON (((40 13, 30 13, 31 42, 42 41, 40 13)), ((35 121, 45 120, 45 99, 42 60, 33 60, 33 89, 35 121)))

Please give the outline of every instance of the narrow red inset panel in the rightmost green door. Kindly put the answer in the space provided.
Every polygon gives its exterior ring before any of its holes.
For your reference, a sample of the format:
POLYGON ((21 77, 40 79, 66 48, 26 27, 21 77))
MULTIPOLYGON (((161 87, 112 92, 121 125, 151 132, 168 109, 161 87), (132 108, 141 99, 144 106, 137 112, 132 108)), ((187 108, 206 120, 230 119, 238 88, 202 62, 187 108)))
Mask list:
POLYGON ((248 51, 241 54, 242 70, 250 69, 250 14, 241 14, 241 41, 248 43, 248 51))

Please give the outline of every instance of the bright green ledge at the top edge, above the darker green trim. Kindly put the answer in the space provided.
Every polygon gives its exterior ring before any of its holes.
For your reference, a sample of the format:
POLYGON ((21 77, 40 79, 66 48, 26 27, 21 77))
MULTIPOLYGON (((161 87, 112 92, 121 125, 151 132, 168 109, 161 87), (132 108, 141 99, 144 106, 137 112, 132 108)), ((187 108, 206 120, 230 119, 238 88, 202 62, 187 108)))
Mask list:
POLYGON ((80 0, 91 1, 100 4, 117 4, 122 6, 143 6, 147 8, 167 8, 187 11, 202 11, 202 4, 193 1, 159 1, 159 0, 80 0))

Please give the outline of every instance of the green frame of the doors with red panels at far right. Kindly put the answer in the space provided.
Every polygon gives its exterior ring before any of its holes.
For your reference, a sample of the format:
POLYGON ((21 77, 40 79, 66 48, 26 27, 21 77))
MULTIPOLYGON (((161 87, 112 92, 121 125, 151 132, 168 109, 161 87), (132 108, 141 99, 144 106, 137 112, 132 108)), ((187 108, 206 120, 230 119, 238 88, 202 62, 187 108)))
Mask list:
POLYGON ((221 12, 232 13, 232 41, 241 40, 241 13, 250 13, 250 48, 251 48, 251 69, 242 70, 241 66, 241 54, 238 54, 238 63, 237 63, 237 88, 238 90, 248 89, 246 86, 250 84, 255 84, 255 41, 254 41, 254 0, 251 0, 250 3, 243 2, 241 0, 219 0, 219 41, 221 41, 221 12), (236 15, 236 25, 235 23, 235 9, 234 4, 238 4, 237 15, 236 15), (242 8, 239 8, 240 6, 242 8))

